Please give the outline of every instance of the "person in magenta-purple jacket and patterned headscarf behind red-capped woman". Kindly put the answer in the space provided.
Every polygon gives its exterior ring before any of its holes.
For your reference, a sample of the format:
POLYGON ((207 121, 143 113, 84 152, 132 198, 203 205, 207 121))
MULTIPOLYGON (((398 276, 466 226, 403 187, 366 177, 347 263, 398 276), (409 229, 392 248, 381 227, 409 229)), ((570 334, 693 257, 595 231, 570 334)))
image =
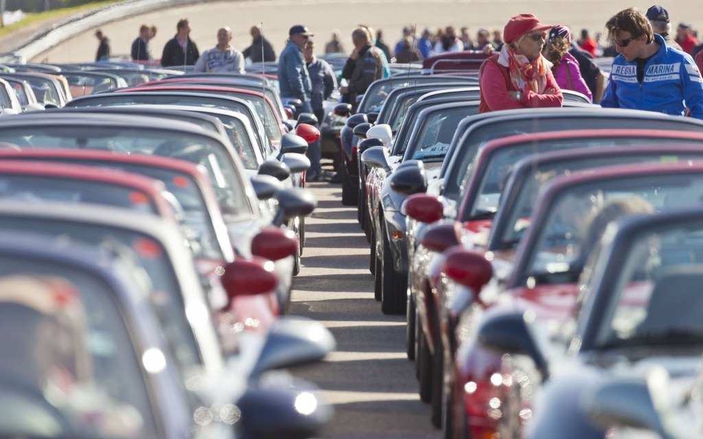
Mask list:
POLYGON ((552 63, 552 74, 562 90, 573 90, 593 100, 593 93, 581 77, 579 61, 569 53, 571 32, 563 25, 555 25, 549 30, 549 39, 543 48, 544 57, 552 63))

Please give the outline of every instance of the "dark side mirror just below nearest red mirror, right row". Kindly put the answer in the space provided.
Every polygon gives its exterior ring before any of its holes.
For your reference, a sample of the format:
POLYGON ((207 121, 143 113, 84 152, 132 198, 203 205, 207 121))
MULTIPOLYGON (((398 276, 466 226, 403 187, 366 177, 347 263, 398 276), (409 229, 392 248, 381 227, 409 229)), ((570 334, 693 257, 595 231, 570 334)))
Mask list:
POLYGON ((496 353, 527 355, 534 361, 542 374, 542 379, 549 377, 547 361, 538 348, 535 339, 527 329, 526 313, 509 311, 493 315, 484 314, 484 321, 479 326, 477 340, 485 348, 496 353))

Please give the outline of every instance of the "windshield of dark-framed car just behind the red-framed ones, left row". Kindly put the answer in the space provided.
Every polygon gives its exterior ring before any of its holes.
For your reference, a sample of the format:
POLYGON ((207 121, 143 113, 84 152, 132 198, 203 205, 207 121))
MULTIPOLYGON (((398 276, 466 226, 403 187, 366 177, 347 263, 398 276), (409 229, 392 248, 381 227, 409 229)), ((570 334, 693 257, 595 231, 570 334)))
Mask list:
POLYGON ((252 207, 228 151, 212 138, 197 134, 138 127, 106 126, 0 127, 0 141, 20 148, 94 149, 173 157, 207 169, 225 215, 250 216, 252 207))

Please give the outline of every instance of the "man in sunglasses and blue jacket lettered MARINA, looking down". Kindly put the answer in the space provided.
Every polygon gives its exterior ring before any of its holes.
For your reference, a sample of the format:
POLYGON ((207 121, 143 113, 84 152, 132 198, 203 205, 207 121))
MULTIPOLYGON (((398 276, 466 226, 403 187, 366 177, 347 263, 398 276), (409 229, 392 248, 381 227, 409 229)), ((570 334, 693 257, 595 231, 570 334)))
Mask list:
POLYGON ((619 55, 600 102, 602 107, 633 108, 703 119, 703 79, 693 58, 666 46, 636 8, 605 24, 619 55))

